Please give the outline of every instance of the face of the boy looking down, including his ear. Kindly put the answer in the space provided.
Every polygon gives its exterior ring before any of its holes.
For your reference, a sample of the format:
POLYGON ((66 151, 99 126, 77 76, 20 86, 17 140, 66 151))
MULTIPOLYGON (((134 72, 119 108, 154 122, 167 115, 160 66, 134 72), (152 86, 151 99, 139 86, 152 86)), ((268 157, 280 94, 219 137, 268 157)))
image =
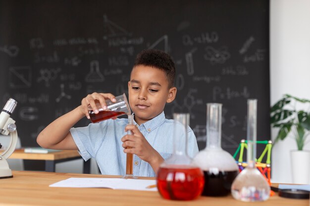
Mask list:
POLYGON ((176 88, 168 88, 164 71, 135 66, 128 82, 129 105, 137 124, 143 124, 159 115, 164 106, 175 98, 176 88))

